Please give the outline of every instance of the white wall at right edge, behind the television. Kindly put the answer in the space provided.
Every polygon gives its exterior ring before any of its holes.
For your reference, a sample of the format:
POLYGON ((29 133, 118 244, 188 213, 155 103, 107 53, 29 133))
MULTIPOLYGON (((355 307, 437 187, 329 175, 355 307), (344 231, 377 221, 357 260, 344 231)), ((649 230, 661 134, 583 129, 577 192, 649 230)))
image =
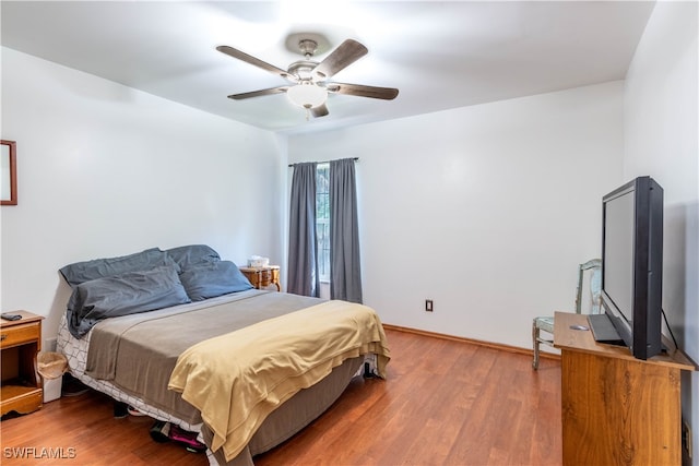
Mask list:
MULTIPOLYGON (((664 190, 663 308, 699 361, 699 14, 696 2, 659 2, 626 80, 624 176, 650 175, 664 190)), ((699 374, 683 377, 683 414, 699 465, 699 374)))

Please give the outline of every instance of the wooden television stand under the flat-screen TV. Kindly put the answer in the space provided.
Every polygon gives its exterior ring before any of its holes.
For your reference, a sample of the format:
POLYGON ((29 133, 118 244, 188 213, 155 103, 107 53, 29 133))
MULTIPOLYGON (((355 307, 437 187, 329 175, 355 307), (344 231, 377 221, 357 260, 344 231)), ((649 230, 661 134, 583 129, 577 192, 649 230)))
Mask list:
POLYGON ((679 465, 682 351, 636 359, 594 340, 587 315, 556 312, 560 349, 562 464, 679 465))

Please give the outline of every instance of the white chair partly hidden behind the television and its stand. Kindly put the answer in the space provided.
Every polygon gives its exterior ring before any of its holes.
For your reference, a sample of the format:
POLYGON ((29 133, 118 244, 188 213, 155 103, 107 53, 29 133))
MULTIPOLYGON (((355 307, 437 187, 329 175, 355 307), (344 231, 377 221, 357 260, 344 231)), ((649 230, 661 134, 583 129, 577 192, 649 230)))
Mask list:
MULTIPOLYGON (((585 282, 589 284, 590 290, 590 307, 588 313, 599 314, 602 295, 602 261, 600 259, 592 259, 584 264, 580 264, 578 271, 578 292, 576 295, 576 312, 578 314, 582 312, 582 289, 585 285, 585 282), (589 275, 588 280, 585 280, 585 274, 589 275)), ((544 344, 554 346, 553 334, 553 316, 534 318, 534 321, 532 323, 532 343, 534 344, 534 360, 532 361, 532 367, 534 368, 534 370, 538 369, 540 345, 544 344), (547 334, 549 334, 549 336, 543 337, 541 334, 542 332, 546 332, 547 334)))

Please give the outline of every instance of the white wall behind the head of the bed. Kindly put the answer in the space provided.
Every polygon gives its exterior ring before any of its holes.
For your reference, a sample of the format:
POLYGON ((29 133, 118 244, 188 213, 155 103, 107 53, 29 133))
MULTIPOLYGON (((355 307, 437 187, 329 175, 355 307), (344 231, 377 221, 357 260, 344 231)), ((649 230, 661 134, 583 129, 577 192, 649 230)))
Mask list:
POLYGON ((19 178, 19 205, 0 210, 3 311, 45 315, 54 336, 70 295, 61 266, 151 247, 283 259, 287 169, 272 133, 1 51, 19 178))

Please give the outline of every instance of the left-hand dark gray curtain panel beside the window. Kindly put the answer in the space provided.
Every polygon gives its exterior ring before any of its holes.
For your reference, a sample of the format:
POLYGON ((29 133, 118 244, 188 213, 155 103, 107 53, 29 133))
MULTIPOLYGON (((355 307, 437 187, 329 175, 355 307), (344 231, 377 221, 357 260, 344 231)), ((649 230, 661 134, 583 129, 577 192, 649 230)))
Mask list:
POLYGON ((320 294, 316 242, 316 163, 296 164, 289 208, 287 290, 295 295, 320 294))

